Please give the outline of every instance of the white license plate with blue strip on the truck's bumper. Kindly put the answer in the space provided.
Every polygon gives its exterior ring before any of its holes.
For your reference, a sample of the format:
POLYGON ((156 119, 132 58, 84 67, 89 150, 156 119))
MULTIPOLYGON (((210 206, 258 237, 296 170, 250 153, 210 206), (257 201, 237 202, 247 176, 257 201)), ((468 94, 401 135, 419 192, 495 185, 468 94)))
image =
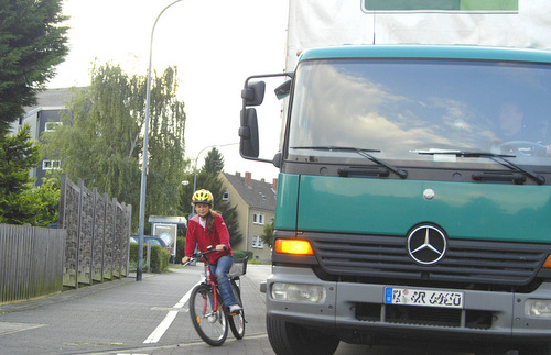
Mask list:
POLYGON ((403 306, 424 306, 463 308, 463 292, 420 290, 413 288, 385 288, 385 303, 403 306))

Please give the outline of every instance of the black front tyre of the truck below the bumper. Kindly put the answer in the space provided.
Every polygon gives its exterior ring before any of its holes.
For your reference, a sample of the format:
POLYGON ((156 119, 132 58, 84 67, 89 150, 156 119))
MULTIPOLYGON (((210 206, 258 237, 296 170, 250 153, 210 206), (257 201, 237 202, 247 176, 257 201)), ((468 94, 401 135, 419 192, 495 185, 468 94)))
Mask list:
POLYGON ((304 326, 266 317, 270 344, 278 355, 331 355, 341 340, 304 326))

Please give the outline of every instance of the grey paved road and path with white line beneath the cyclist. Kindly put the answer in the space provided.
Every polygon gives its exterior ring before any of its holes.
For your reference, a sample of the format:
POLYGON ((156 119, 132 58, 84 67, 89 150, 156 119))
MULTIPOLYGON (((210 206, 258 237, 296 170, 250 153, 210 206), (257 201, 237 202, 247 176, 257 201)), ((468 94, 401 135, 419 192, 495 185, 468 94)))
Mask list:
MULTIPOLYGON (((186 293, 202 266, 107 281, 36 300, 0 306, 0 354, 274 354, 266 334, 264 295, 270 267, 249 265, 241 279, 246 335, 220 347, 201 341, 190 321, 186 293)), ((453 350, 350 345, 335 354, 458 355, 453 350)))

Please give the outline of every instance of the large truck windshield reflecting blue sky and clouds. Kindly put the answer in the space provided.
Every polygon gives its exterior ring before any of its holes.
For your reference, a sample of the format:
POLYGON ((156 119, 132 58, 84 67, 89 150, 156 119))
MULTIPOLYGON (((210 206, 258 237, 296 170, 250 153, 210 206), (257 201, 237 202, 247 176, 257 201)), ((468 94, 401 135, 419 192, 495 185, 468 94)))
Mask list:
POLYGON ((487 152, 541 169, 551 165, 550 96, 551 70, 543 64, 303 62, 296 70, 287 157, 361 159, 353 149, 312 149, 337 146, 370 149, 395 165, 439 167, 488 164, 446 152, 487 152))

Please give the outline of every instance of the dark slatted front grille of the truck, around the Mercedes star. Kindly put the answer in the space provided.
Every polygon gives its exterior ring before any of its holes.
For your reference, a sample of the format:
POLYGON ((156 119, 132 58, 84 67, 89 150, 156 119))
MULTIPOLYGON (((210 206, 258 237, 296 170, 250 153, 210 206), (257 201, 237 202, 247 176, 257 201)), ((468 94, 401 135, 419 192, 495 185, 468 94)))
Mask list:
POLYGON ((404 236, 309 233, 307 238, 323 271, 333 277, 409 279, 425 285, 528 285, 551 253, 544 244, 450 238, 440 263, 421 266, 408 256, 404 236))

